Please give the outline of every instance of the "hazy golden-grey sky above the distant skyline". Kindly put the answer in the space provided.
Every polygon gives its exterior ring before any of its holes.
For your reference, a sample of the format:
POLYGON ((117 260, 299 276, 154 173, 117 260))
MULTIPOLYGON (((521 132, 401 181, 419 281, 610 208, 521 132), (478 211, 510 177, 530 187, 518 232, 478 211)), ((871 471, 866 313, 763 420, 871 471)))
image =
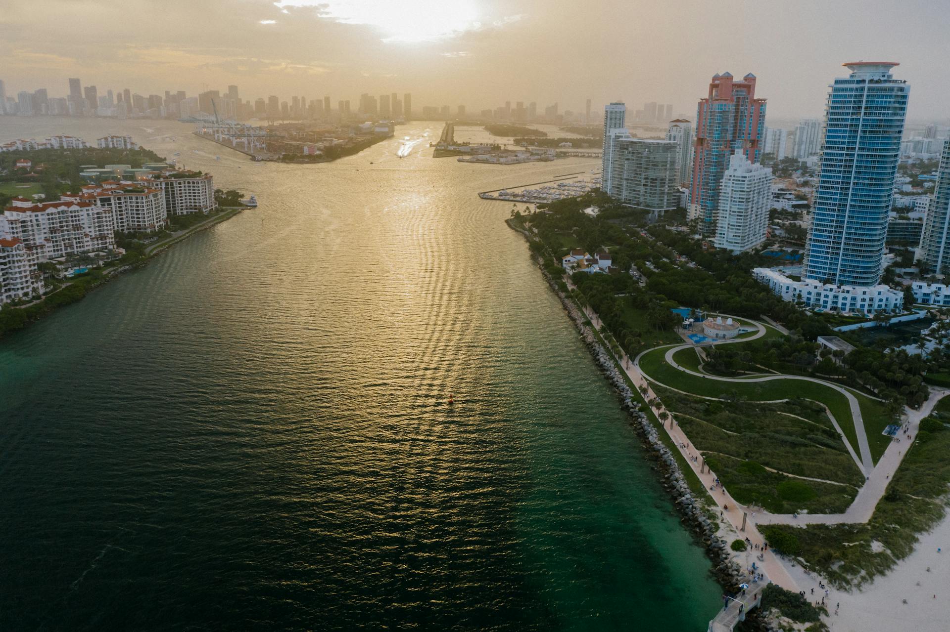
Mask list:
POLYGON ((896 61, 911 119, 950 116, 947 0, 2 0, 8 94, 67 77, 104 90, 413 107, 621 99, 695 111, 710 77, 758 79, 772 117, 820 115, 856 60, 896 61))

